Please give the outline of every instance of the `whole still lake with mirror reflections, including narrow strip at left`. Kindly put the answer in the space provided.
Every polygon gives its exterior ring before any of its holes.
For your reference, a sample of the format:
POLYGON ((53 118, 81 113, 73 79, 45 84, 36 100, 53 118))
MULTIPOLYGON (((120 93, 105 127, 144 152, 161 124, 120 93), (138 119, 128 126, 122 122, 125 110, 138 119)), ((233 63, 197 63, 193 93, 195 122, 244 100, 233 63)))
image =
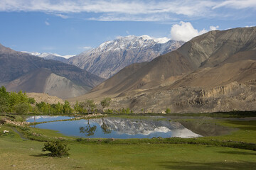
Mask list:
POLYGON ((181 122, 176 121, 175 118, 165 116, 143 116, 143 118, 110 116, 90 120, 68 120, 72 118, 74 117, 32 116, 27 118, 26 121, 40 123, 32 125, 33 128, 57 130, 63 135, 86 138, 188 138, 223 135, 230 132, 228 128, 200 118, 197 118, 196 121, 181 122))

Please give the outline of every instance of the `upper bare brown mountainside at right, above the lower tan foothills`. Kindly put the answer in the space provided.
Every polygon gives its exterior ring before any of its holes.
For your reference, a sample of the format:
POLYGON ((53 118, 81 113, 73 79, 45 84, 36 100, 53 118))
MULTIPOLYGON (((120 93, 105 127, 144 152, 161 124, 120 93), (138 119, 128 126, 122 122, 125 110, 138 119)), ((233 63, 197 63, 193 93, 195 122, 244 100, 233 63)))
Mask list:
MULTIPOLYGON (((150 89, 160 85, 170 77, 189 74, 198 68, 215 67, 216 65, 233 61, 232 57, 241 52, 252 51, 253 57, 256 45, 256 28, 235 28, 231 30, 213 30, 204 35, 193 38, 183 46, 166 55, 144 64, 129 77, 117 81, 115 86, 101 86, 106 88, 107 94, 122 93, 134 89, 150 89), (112 87, 111 87, 112 86, 112 87)), ((247 56, 247 55, 246 55, 247 56)), ((250 57, 251 58, 251 57, 250 57)), ((119 77, 117 73, 114 77, 119 77)), ((124 73, 122 73, 124 74, 124 73)), ((108 84, 107 80, 103 84, 108 84)), ((99 86, 97 87, 99 89, 99 86)))

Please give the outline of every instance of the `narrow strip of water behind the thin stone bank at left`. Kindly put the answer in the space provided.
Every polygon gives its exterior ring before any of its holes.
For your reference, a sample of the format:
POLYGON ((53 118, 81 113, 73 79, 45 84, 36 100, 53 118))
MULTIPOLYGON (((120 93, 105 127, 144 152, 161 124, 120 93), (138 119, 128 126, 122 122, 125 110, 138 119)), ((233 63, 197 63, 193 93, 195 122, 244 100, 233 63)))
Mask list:
POLYGON ((65 120, 65 119, 70 119, 74 117, 69 117, 69 116, 50 116, 50 115, 36 115, 36 116, 31 116, 29 118, 26 118, 27 122, 48 122, 48 121, 55 121, 55 120, 65 120))

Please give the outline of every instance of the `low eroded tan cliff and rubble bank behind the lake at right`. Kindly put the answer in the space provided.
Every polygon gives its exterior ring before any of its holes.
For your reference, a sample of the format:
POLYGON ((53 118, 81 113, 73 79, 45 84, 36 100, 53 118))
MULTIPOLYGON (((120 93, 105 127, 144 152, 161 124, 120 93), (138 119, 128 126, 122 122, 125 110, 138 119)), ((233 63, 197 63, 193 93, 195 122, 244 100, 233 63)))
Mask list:
POLYGON ((218 111, 254 111, 256 85, 233 82, 226 86, 202 89, 179 87, 171 90, 137 92, 115 98, 112 108, 131 108, 136 113, 201 113, 218 111))

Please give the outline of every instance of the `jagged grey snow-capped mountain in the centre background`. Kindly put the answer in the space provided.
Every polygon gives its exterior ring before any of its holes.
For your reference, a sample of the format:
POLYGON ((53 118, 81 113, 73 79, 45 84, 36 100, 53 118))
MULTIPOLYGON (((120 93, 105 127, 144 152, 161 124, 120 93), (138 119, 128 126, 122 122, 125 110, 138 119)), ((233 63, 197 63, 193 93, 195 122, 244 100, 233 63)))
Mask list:
POLYGON ((154 39, 147 35, 130 35, 104 42, 95 49, 71 57, 68 63, 107 79, 129 64, 151 61, 159 55, 176 50, 183 43, 154 39))

